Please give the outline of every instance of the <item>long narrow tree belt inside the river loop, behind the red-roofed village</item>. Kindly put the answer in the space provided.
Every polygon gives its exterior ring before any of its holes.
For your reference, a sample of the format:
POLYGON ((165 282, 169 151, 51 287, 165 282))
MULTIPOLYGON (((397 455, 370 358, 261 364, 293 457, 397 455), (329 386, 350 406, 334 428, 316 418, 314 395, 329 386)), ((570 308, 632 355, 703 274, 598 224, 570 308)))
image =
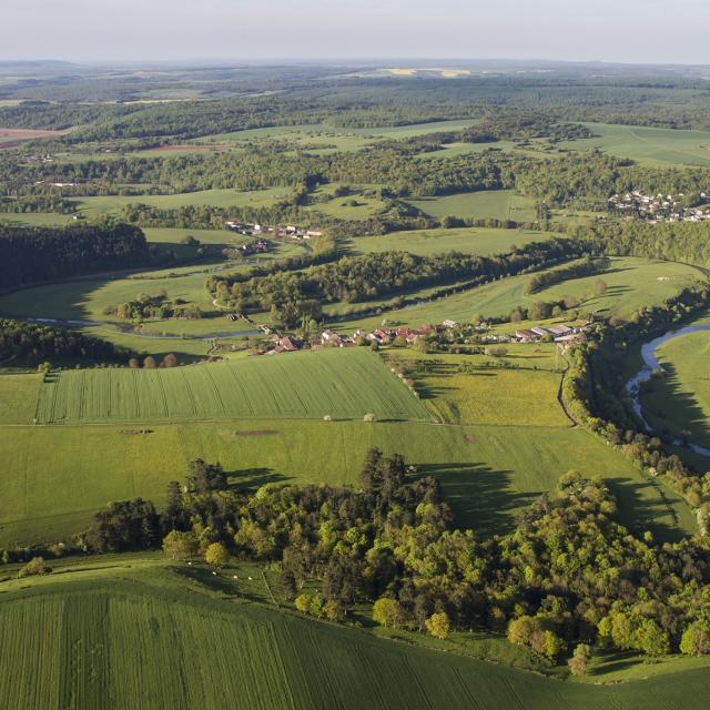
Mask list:
MULTIPOLYGON (((383 252, 346 256, 304 271, 274 272, 267 276, 213 276, 209 287, 221 303, 237 307, 284 308, 298 302, 357 303, 415 287, 467 280, 469 287, 549 266, 579 256, 584 243, 556 239, 535 242, 509 254, 474 256, 450 252, 417 256, 383 252)), ((297 311, 297 310, 296 310, 297 311)))

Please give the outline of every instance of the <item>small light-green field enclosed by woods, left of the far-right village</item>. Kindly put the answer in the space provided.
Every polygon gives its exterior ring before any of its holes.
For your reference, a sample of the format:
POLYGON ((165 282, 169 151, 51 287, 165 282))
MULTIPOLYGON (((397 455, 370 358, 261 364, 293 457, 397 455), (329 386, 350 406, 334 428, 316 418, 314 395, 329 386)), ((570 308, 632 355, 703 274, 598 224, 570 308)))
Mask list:
POLYGON ((535 220, 531 197, 516 194, 513 190, 485 190, 442 197, 419 197, 407 202, 432 217, 470 217, 476 220, 535 220))

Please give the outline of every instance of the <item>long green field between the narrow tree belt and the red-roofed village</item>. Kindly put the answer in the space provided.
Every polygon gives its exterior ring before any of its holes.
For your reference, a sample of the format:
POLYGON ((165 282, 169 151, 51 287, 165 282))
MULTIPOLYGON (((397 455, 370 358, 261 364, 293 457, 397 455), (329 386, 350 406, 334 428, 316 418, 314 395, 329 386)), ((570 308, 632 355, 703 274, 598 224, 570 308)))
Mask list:
MULTIPOLYGON (((571 278, 528 295, 525 288, 531 276, 526 274, 438 301, 390 311, 386 317, 392 323, 408 325, 440 323, 446 318, 469 322, 475 314, 501 316, 516 306, 529 306, 536 301, 559 301, 566 295, 576 296, 584 313, 599 310, 608 315, 628 317, 641 306, 662 303, 700 276, 700 272, 694 267, 677 262, 637 257, 612 258, 610 268, 600 275, 608 286, 604 296, 594 293, 594 282, 598 276, 571 278)), ((381 322, 382 316, 366 317, 348 322, 343 327, 372 328, 377 327, 381 322)), ((513 328, 515 329, 515 326, 513 328)))

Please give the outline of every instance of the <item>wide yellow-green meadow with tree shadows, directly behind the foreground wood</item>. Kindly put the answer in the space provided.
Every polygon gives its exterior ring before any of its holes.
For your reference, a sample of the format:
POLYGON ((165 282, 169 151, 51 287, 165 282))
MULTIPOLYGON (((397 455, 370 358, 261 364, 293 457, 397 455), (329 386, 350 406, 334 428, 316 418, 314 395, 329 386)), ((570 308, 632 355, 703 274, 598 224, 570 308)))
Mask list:
POLYGON ((659 539, 694 529, 678 496, 568 426, 272 418, 154 424, 144 435, 124 434, 129 428, 0 427, 0 547, 67 539, 111 500, 142 496, 162 505, 168 481, 182 479, 195 458, 222 463, 235 486, 345 485, 357 481, 372 446, 403 454, 418 475, 436 476, 457 525, 481 535, 510 530, 520 510, 570 468, 602 476, 633 529, 651 529, 659 539))

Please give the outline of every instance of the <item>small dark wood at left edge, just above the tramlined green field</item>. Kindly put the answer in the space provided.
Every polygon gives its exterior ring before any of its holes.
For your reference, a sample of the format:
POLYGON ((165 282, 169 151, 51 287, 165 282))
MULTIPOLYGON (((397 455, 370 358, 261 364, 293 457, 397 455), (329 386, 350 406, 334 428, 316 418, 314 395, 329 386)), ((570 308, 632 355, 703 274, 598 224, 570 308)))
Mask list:
POLYGON ((125 362, 129 353, 101 338, 75 331, 20 321, 0 321, 0 361, 19 359, 125 362))

